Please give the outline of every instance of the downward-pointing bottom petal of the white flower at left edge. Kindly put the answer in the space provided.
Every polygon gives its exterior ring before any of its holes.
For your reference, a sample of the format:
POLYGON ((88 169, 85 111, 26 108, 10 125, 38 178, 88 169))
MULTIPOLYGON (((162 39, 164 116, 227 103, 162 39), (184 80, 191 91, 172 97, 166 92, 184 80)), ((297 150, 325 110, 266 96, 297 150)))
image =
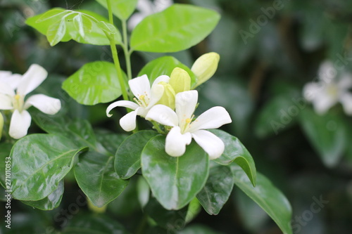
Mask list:
POLYGON ((19 139, 27 135, 31 120, 32 118, 27 110, 23 110, 23 112, 18 112, 18 110, 15 110, 11 117, 10 130, 8 131, 8 134, 15 139, 19 139))

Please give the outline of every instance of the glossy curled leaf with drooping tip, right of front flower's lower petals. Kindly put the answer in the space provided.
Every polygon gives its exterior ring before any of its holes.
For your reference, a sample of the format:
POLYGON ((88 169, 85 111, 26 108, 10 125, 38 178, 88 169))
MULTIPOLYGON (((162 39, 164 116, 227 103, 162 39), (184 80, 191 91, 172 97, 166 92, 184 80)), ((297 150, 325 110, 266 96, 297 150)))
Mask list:
POLYGON ((246 172, 253 186, 256 186, 256 164, 239 139, 219 129, 210 129, 209 131, 225 143, 224 152, 214 161, 222 165, 228 165, 232 162, 238 164, 246 172))

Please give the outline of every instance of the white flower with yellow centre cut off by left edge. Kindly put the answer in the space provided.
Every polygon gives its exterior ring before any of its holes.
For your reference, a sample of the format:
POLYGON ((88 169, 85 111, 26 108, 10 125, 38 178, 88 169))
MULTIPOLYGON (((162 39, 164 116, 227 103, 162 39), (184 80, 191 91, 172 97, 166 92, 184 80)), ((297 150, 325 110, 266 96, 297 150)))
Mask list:
POLYGON ((48 72, 33 64, 23 74, 11 74, 0 72, 0 110, 13 111, 9 134, 18 139, 27 135, 32 118, 27 109, 32 105, 40 111, 55 115, 61 109, 61 102, 57 98, 51 98, 44 94, 36 94, 25 100, 25 96, 42 84, 48 72))

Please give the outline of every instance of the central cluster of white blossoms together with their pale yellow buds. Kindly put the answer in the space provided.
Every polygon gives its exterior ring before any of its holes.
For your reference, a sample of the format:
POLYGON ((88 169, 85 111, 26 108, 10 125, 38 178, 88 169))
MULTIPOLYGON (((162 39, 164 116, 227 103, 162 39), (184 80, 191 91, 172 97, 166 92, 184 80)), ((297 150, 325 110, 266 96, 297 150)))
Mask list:
MULTIPOLYGON (((198 82, 195 86, 206 82, 213 76, 218 67, 217 53, 201 56, 191 70, 196 74, 198 82)), ((229 113, 222 107, 210 108, 199 117, 194 117, 198 104, 198 91, 191 90, 191 77, 176 67, 170 77, 162 75, 150 86, 146 75, 137 77, 129 82, 134 94, 134 102, 119 100, 108 106, 106 115, 115 107, 130 108, 133 111, 120 119, 120 125, 125 131, 132 131, 136 127, 137 115, 162 125, 167 132, 165 152, 173 157, 184 155, 186 146, 191 139, 206 151, 210 159, 222 155, 225 145, 218 136, 205 129, 217 129, 223 124, 232 122, 229 113)))

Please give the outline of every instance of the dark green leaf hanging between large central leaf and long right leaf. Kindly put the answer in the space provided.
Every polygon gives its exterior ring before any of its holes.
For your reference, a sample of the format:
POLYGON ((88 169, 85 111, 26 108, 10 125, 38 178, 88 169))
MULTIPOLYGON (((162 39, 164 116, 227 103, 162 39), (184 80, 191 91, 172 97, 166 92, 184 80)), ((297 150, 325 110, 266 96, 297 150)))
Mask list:
POLYGON ((206 186, 198 193, 197 198, 208 214, 216 215, 229 199, 233 187, 234 176, 230 168, 212 167, 206 186))

